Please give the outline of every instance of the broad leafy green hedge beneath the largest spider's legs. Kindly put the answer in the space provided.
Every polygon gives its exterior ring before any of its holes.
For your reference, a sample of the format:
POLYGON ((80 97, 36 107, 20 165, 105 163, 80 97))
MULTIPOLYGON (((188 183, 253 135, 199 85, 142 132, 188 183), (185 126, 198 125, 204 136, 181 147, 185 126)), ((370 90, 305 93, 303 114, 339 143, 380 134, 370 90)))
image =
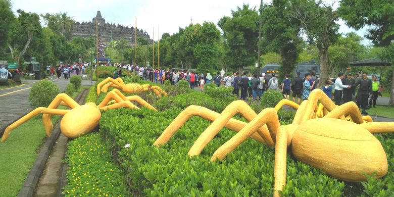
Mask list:
MULTIPOLYGON (((191 118, 161 148, 153 142, 179 114, 141 110, 110 110, 103 114, 103 133, 133 193, 146 196, 269 196, 273 192, 274 149, 253 139, 243 142, 220 162, 210 163, 218 147, 234 135, 222 129, 198 157, 190 159, 188 150, 210 125, 191 118), (129 143, 130 147, 124 149, 129 143)), ((344 183, 322 171, 287 158, 287 185, 284 194, 295 196, 340 196, 344 183)))

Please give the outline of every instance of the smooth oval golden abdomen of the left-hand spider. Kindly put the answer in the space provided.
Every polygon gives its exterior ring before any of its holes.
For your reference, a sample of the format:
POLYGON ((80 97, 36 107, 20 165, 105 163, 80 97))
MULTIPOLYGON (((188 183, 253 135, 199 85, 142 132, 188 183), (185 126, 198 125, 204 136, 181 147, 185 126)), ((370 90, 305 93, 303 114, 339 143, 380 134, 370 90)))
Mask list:
POLYGON ((88 103, 65 114, 60 122, 60 129, 66 137, 76 138, 92 131, 100 118, 100 110, 93 103, 88 103))

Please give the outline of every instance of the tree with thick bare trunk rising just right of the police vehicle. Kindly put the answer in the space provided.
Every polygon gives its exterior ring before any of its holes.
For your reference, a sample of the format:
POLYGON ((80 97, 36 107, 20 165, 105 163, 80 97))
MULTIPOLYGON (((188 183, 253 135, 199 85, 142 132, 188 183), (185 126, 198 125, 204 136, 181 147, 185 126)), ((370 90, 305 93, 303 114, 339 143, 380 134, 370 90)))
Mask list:
POLYGON ((333 4, 326 5, 322 1, 295 0, 292 17, 299 20, 302 30, 308 36, 310 43, 316 44, 320 60, 320 85, 329 79, 328 48, 338 37, 339 18, 333 4))

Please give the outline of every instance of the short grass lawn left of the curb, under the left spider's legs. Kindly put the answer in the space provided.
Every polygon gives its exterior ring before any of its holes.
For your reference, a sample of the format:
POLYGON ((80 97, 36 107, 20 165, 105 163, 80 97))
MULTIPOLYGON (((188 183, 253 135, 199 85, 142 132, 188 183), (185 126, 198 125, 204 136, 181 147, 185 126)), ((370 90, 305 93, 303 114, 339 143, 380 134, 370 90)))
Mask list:
MULTIPOLYGON (((75 98, 80 90, 72 97, 75 98)), ((6 142, 0 142, 0 196, 16 196, 29 174, 46 137, 41 117, 38 115, 23 123, 11 132, 6 142)), ((60 116, 53 116, 53 124, 59 119, 60 116)))

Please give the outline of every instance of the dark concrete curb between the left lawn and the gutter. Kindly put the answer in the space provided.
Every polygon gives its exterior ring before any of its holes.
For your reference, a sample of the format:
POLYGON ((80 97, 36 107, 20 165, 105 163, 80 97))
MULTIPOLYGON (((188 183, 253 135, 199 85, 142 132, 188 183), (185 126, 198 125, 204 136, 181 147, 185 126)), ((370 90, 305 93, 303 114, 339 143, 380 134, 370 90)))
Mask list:
POLYGON ((38 157, 35 160, 33 167, 30 169, 30 173, 29 175, 27 175, 27 178, 23 183, 23 186, 19 191, 18 196, 33 196, 35 186, 37 185, 38 180, 44 170, 46 160, 51 154, 51 151, 59 135, 60 123, 56 124, 55 129, 51 134, 51 137, 47 138, 44 145, 41 147, 38 157))

